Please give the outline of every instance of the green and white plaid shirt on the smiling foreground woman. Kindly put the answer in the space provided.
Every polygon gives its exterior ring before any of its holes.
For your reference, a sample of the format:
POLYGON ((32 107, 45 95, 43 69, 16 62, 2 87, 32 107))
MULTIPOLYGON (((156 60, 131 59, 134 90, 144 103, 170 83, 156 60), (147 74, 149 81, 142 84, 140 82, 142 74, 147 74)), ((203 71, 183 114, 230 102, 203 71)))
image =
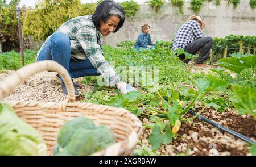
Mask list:
MULTIPOLYGON (((79 16, 62 24, 55 32, 62 32, 69 36, 71 41, 71 57, 74 60, 89 59, 110 85, 121 81, 102 52, 101 34, 92 22, 92 15, 79 16)), ((46 45, 49 36, 40 50, 46 45)))

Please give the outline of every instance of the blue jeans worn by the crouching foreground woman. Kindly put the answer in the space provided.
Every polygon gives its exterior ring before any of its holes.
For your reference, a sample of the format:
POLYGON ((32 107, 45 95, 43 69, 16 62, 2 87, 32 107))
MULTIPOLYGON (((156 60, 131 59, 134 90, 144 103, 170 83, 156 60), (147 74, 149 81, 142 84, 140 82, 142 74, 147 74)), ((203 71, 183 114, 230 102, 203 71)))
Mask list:
MULTIPOLYGON (((89 59, 75 61, 71 58, 71 46, 68 35, 53 34, 39 53, 37 61, 54 60, 68 70, 71 78, 100 76, 89 59)), ((61 78, 62 80, 62 78, 61 78)))

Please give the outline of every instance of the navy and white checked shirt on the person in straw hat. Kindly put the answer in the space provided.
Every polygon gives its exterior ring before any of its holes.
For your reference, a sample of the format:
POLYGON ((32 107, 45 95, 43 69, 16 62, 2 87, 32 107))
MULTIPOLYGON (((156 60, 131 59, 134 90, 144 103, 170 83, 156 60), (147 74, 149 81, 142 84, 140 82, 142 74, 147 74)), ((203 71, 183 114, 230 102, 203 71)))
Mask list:
POLYGON ((177 48, 185 48, 189 43, 195 39, 204 37, 204 33, 196 20, 190 20, 177 31, 174 38, 172 49, 176 51, 177 48))

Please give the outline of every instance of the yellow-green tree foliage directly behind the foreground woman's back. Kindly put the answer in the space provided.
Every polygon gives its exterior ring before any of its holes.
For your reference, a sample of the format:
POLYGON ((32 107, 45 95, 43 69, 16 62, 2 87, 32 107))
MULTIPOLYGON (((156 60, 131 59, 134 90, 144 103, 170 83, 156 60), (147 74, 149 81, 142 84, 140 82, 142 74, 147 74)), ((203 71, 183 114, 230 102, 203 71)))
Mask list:
POLYGON ((77 16, 92 14, 96 5, 82 5, 79 0, 44 0, 24 15, 23 34, 34 40, 45 40, 61 24, 77 16))

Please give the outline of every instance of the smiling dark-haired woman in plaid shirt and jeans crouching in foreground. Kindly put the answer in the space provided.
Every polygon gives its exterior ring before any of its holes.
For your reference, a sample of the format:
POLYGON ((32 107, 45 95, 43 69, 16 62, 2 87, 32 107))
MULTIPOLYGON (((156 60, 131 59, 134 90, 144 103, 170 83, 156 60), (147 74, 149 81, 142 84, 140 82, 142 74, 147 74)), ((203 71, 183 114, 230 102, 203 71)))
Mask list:
MULTIPOLYGON (((37 61, 59 62, 68 70, 71 78, 102 74, 109 85, 117 85, 122 94, 134 91, 134 87, 121 81, 102 52, 101 35, 117 32, 124 22, 122 7, 112 0, 105 0, 97 6, 93 15, 73 18, 57 28, 40 48, 37 61)), ((59 74, 56 77, 61 81, 63 93, 68 94, 63 79, 59 74)), ((74 87, 78 96, 78 86, 74 84, 74 87)))

